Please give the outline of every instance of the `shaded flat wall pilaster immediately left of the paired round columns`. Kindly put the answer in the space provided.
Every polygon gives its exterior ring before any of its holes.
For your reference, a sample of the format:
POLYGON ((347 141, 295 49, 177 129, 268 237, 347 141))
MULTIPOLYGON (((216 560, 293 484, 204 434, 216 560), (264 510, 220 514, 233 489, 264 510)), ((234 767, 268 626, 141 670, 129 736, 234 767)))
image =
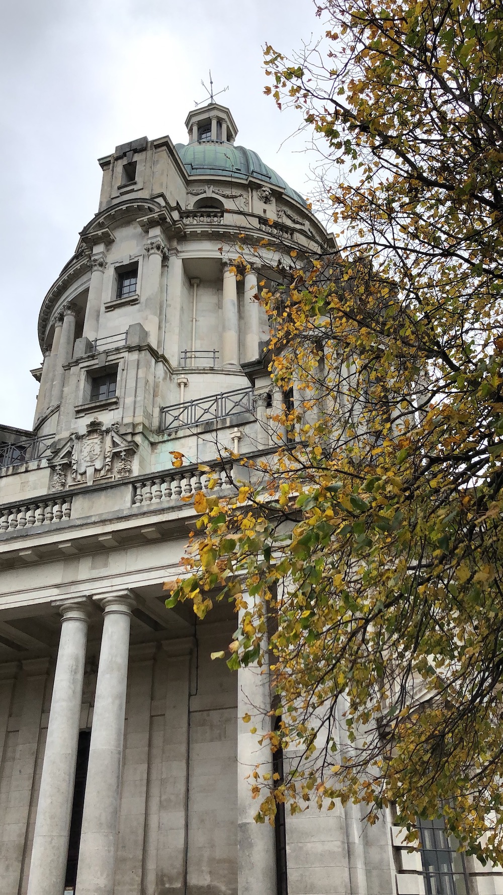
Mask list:
POLYGON ((24 701, 0 842, 2 895, 18 895, 40 736, 48 659, 22 662, 24 701))

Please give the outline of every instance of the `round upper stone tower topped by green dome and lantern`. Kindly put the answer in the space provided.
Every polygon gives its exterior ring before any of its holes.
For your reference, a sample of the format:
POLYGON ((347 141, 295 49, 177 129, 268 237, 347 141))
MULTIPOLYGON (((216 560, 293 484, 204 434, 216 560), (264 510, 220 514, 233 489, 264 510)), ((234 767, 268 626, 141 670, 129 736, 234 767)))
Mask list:
MULTIPOLYGON (((250 251, 236 278, 238 235, 277 242, 274 263, 327 242, 302 196, 235 145, 229 109, 213 102, 186 126, 187 145, 145 137, 99 159, 98 213, 42 304, 34 431, 58 445, 49 488, 90 482, 82 439, 95 418, 111 456, 92 481, 166 469, 173 450, 209 460, 216 421, 220 447, 233 447, 234 418, 252 410, 246 365, 269 338, 256 298, 269 270, 250 251)), ((251 420, 240 431, 242 451, 262 445, 251 420)))

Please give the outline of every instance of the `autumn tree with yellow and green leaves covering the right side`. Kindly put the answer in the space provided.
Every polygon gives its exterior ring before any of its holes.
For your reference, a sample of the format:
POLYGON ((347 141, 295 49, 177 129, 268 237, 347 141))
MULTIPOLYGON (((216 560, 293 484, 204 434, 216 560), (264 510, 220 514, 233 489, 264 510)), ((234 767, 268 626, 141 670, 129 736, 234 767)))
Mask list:
POLYGON ((198 495, 168 602, 235 601, 231 668, 260 661, 272 618, 270 744, 303 760, 286 780, 257 770, 259 820, 339 797, 373 823, 394 803, 411 841, 417 814, 444 814, 501 861, 503 10, 318 13, 317 46, 267 48, 266 92, 324 147, 340 251, 292 251, 262 292, 271 371, 296 396, 286 443, 241 460, 232 498, 198 495))

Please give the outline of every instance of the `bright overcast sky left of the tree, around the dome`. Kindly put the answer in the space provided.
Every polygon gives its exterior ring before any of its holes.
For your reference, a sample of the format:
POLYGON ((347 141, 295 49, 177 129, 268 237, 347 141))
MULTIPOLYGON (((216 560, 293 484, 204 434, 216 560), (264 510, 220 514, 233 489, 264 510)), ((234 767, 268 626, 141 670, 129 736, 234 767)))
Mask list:
POLYGON ((262 47, 288 54, 320 34, 311 0, 16 0, 0 35, 0 422, 30 429, 41 362, 38 311, 98 210, 96 159, 183 122, 211 68, 237 143, 303 194, 299 119, 263 95, 262 47), (286 141, 284 143, 284 141, 286 141), (284 143, 282 146, 281 144, 284 143))

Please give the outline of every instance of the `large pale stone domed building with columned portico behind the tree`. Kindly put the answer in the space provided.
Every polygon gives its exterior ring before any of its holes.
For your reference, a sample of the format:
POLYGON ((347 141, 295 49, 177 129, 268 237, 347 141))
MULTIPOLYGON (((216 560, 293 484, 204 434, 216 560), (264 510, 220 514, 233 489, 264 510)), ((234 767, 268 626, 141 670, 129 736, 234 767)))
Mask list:
POLYGON ((163 582, 198 463, 228 488, 226 449, 267 449, 283 400, 253 297, 272 271, 236 279, 238 234, 275 259, 333 243, 226 107, 186 125, 187 145, 99 159, 98 213, 39 314, 33 430, 0 427, 0 895, 503 895, 441 829, 421 857, 353 805, 252 820, 241 718, 265 678, 210 661, 228 607, 196 622, 163 582))

